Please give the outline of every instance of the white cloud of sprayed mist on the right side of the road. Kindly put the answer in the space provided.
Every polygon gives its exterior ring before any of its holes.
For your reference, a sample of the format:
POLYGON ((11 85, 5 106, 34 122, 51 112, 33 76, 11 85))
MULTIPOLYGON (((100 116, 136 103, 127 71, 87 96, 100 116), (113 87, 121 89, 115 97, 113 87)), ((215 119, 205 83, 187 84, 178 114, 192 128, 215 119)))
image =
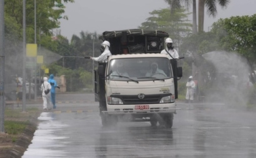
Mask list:
MULTIPOLYGON (((239 54, 225 51, 209 52, 203 54, 203 58, 215 68, 206 99, 211 102, 223 102, 226 105, 245 106, 249 98, 247 83, 250 73, 246 59, 239 54)), ((201 66, 201 69, 204 68, 201 66)), ((212 73, 208 72, 209 75, 212 73)))

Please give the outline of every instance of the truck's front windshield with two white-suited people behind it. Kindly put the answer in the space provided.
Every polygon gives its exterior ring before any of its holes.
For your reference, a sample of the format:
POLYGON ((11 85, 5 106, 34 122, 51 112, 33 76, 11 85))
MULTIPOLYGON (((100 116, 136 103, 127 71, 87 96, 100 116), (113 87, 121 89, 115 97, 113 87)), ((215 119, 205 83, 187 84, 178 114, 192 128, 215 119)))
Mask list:
POLYGON ((112 59, 107 76, 110 80, 164 81, 173 77, 173 73, 167 58, 125 58, 112 59))

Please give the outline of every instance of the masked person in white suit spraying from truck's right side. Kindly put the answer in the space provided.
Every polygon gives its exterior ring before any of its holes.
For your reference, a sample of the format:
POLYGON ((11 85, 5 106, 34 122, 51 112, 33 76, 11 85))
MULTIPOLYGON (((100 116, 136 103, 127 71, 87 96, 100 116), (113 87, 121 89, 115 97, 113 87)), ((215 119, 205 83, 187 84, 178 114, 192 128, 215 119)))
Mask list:
POLYGON ((164 43, 166 48, 163 49, 160 54, 168 54, 169 59, 178 59, 179 54, 176 49, 173 48, 173 40, 168 37, 165 39, 164 43))

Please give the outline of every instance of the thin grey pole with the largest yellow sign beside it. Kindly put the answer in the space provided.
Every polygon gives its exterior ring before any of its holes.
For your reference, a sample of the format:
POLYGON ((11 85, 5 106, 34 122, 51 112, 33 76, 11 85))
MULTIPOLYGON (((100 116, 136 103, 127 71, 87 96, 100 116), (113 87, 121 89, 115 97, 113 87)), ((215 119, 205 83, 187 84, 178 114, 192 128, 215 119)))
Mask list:
POLYGON ((26 110, 26 0, 23 0, 22 112, 26 110))

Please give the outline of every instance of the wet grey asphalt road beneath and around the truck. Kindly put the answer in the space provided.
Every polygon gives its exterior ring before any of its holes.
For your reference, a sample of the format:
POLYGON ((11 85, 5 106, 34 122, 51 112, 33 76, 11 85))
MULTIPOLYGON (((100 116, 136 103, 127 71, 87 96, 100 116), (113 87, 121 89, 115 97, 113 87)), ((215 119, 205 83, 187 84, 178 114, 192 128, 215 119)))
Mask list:
MULTIPOLYGON (((256 115, 222 104, 178 104, 172 129, 103 128, 93 94, 58 94, 22 158, 255 158, 256 115)), ((42 104, 28 105, 42 106, 42 104)))

